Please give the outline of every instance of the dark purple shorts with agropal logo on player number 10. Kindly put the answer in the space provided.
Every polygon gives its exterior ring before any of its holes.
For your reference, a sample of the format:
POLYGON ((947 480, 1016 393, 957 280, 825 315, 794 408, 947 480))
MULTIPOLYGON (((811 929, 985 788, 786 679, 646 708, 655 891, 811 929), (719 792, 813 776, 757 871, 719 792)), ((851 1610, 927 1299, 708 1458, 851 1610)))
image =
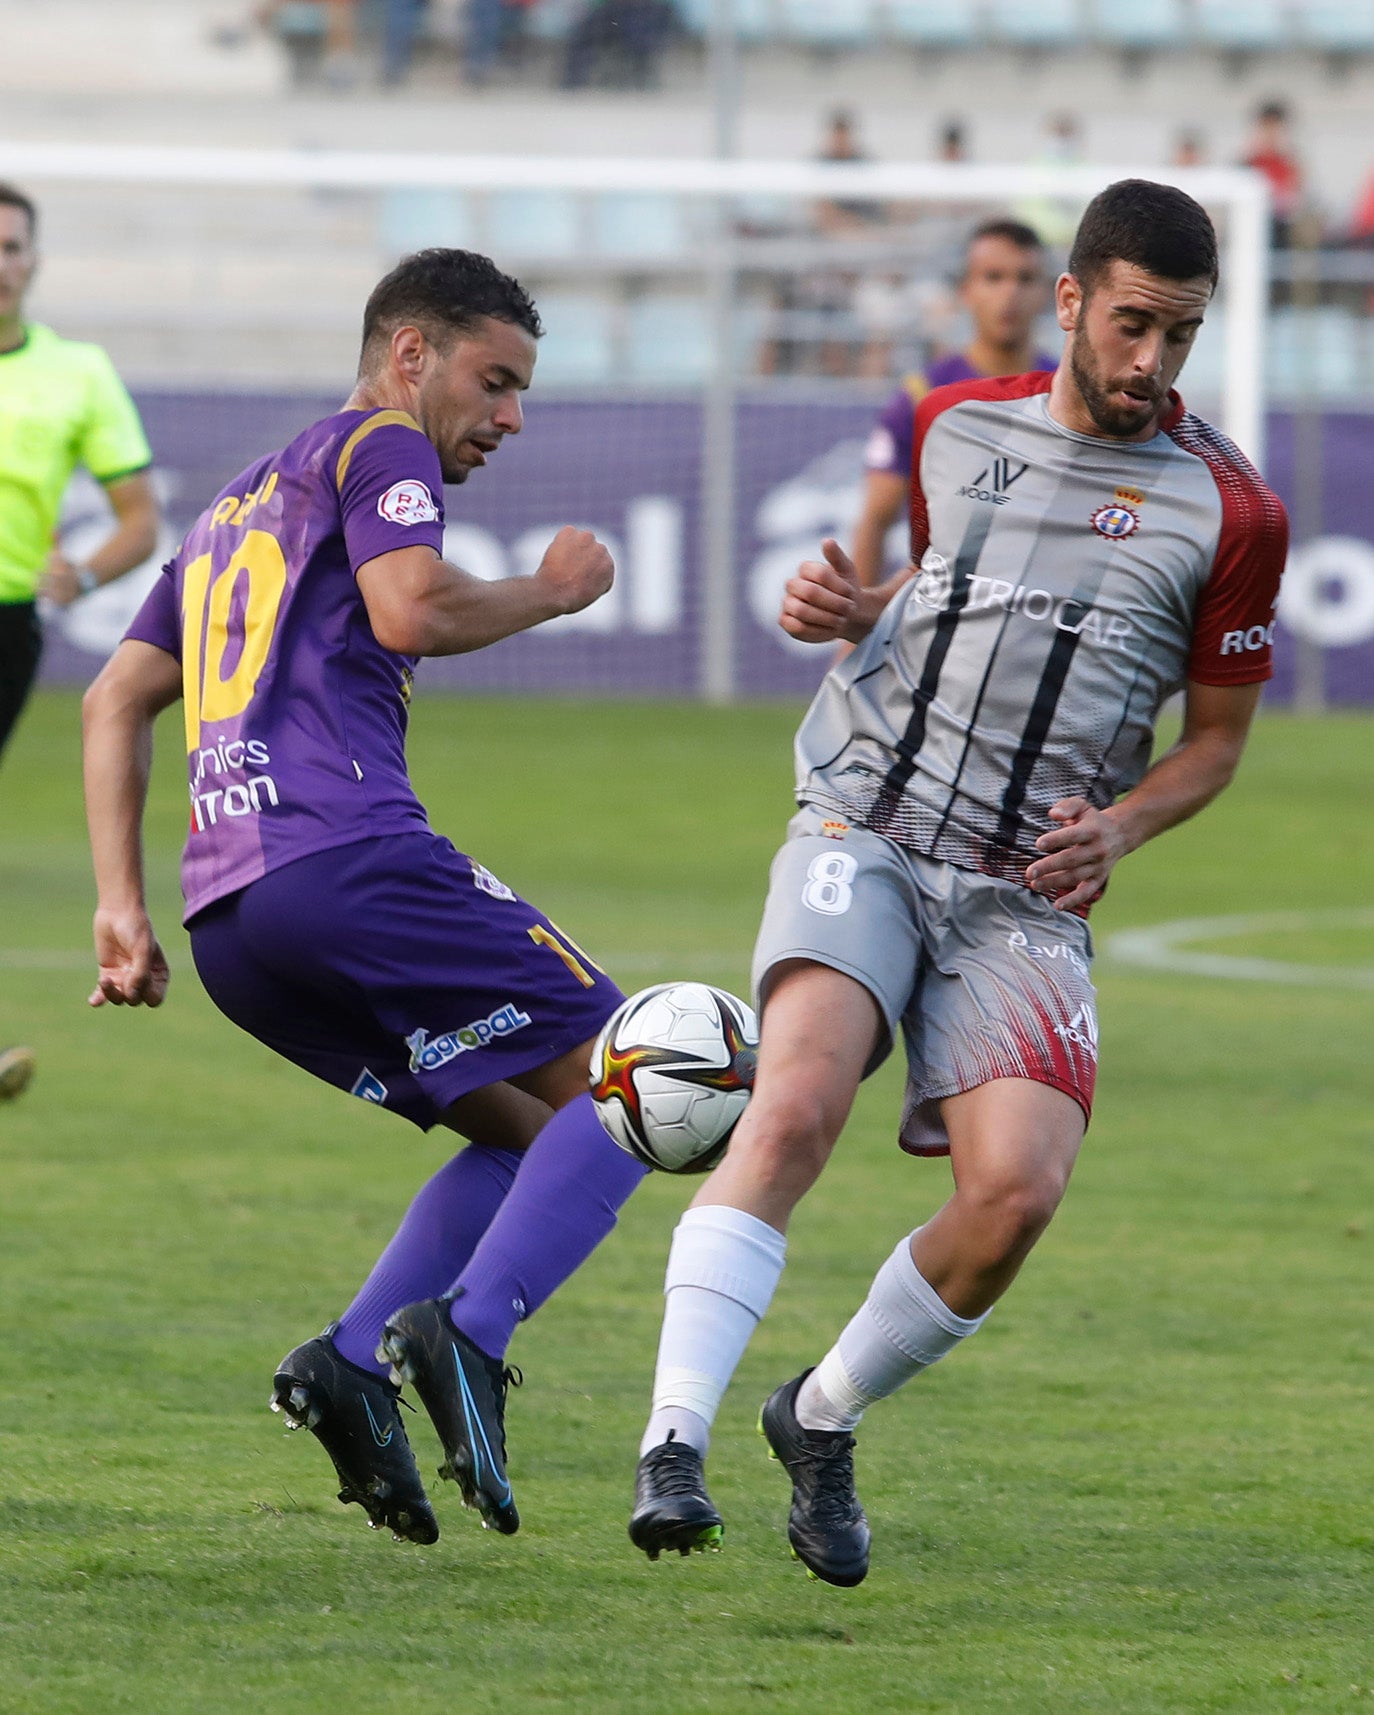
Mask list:
POLYGON ((298 858, 187 928, 225 1017, 420 1127, 569 1053, 621 1002, 575 942, 437 833, 298 858))

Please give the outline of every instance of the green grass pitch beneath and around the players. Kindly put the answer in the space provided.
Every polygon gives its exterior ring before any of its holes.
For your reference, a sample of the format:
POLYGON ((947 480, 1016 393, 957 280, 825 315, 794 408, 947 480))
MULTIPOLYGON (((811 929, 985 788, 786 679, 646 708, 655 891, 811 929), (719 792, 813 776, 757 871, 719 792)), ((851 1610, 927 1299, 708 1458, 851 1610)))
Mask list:
MULTIPOLYGON (((436 827, 626 986, 746 984, 796 710, 420 700, 436 827)), ((434 1485, 413 1549, 333 1499, 266 1411, 444 1156, 213 1012, 177 928, 178 724, 149 815, 160 1014, 84 1007, 77 703, 0 777, 0 1708, 1374 1710, 1374 931, 1292 928, 1329 986, 1100 966, 1098 1116, 1064 1211, 949 1363, 873 1411, 856 1592, 786 1550, 758 1401, 813 1362, 947 1168, 894 1146, 892 1063, 798 1214, 712 1454, 719 1557, 631 1550, 667 1237, 655 1180, 523 1329, 525 1528, 434 1485)), ((1094 930, 1374 904, 1374 724, 1259 722, 1242 777, 1118 871, 1094 930)), ((1216 943, 1264 954, 1264 936, 1216 943)), ((422 1468, 437 1461, 413 1422, 422 1468)))

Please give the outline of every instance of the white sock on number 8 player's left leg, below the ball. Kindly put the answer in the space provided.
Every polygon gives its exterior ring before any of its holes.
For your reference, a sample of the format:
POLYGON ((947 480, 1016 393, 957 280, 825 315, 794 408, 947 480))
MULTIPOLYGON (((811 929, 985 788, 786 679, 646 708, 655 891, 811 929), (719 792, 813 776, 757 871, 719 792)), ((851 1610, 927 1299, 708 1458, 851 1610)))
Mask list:
POLYGON ((705 1458, 710 1425, 772 1302, 786 1252, 782 1233, 743 1209, 686 1211, 667 1255, 654 1411, 640 1456, 672 1432, 705 1458))

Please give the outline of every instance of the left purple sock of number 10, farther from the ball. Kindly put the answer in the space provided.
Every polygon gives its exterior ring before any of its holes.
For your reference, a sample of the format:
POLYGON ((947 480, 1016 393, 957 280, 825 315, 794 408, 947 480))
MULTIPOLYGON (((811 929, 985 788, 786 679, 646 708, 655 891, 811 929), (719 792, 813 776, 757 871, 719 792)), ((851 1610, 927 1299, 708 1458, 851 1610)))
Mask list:
POLYGON ((362 1291, 340 1317, 340 1355, 377 1375, 383 1322, 403 1303, 437 1298, 472 1255, 515 1183, 520 1156, 511 1149, 470 1144, 422 1185, 396 1237, 377 1257, 362 1291))

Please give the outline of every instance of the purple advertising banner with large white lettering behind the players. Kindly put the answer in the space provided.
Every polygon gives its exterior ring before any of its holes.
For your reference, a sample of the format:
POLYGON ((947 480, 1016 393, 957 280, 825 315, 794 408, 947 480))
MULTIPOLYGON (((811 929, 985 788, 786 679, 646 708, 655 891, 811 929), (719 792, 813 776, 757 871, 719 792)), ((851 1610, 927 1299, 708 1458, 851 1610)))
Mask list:
MULTIPOLYGON (((196 514, 238 470, 338 408, 300 394, 139 396, 166 508, 158 556, 48 624, 45 679, 84 684, 196 514)), ((806 696, 827 653, 777 628, 782 583, 822 537, 847 539, 871 401, 744 400, 738 413, 734 683, 741 696, 806 696)), ((1374 701, 1374 415, 1317 420, 1321 532, 1293 545, 1280 604, 1276 679, 1293 695, 1300 638, 1321 650, 1331 701, 1374 701)), ((1269 418, 1268 473, 1292 504, 1295 420, 1269 418)), ((564 523, 597 532, 616 588, 585 614, 453 660, 417 686, 518 693, 686 696, 700 683, 702 406, 695 400, 535 400, 491 468, 446 492, 446 552, 484 578, 530 573, 564 523)), ((94 484, 69 497, 63 540, 89 552, 106 528, 94 484)), ((902 554, 902 525, 890 549, 902 554)))

